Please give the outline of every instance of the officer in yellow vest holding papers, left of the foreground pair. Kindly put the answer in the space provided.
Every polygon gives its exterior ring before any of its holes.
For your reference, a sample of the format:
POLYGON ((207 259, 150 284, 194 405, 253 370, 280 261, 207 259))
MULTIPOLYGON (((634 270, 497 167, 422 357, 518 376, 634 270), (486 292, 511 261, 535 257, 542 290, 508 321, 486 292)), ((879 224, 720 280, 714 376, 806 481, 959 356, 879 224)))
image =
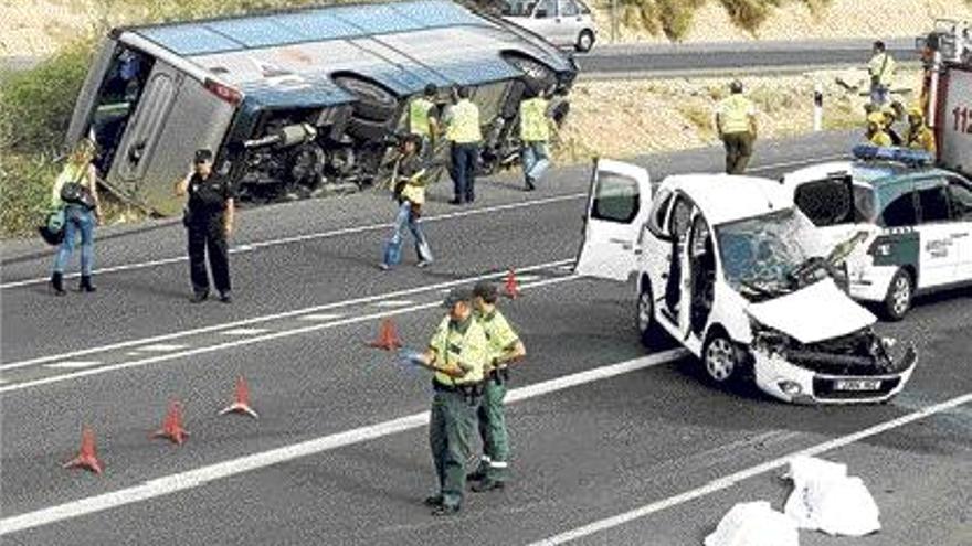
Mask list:
POLYGON ((439 478, 439 493, 425 499, 433 515, 454 515, 463 504, 466 461, 483 397, 483 379, 489 360, 486 333, 473 317, 473 292, 454 288, 443 302, 448 317, 442 320, 418 363, 435 374, 429 421, 429 445, 439 478))

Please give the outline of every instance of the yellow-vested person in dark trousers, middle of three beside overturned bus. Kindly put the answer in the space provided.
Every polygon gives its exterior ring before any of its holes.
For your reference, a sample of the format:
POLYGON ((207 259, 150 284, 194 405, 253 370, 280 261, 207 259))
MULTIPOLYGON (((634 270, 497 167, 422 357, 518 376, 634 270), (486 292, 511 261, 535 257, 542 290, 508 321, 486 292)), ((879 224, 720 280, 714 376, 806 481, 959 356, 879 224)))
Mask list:
POLYGON ((479 142, 483 133, 479 126, 479 107, 469 98, 473 90, 459 87, 457 101, 448 109, 445 120, 445 138, 452 142, 452 165, 450 174, 455 190, 454 205, 472 203, 476 200, 476 169, 479 164, 479 142))

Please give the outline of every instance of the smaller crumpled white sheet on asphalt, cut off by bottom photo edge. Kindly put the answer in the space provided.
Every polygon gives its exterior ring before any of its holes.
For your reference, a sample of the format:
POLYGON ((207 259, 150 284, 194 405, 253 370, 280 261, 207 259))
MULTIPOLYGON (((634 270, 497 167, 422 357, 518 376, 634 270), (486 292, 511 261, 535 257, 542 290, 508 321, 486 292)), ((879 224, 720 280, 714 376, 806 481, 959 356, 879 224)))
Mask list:
POLYGON ((796 522, 765 501, 739 503, 705 539, 706 546, 800 546, 796 522))

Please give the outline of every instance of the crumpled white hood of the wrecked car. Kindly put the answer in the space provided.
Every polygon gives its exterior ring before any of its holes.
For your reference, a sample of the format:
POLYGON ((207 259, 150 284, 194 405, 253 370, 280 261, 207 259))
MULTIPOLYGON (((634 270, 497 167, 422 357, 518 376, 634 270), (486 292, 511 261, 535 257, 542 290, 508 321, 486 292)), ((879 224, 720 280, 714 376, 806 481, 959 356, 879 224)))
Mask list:
POLYGON ((847 335, 877 322, 830 278, 780 298, 750 303, 746 312, 801 343, 847 335))

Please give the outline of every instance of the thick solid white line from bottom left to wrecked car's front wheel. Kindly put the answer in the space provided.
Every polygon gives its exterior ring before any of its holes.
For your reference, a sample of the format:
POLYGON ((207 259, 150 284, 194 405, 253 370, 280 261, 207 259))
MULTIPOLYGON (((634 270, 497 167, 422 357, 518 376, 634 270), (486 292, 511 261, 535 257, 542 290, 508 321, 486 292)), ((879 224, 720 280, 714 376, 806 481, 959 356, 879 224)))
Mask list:
MULTIPOLYGON (((556 379, 537 383, 526 387, 510 390, 509 403, 526 400, 556 393, 584 383, 614 377, 620 374, 644 370, 666 364, 687 354, 684 350, 670 350, 663 353, 643 356, 633 361, 604 366, 601 368, 581 372, 579 374, 558 377, 556 379)), ((159 496, 199 488, 214 480, 221 480, 244 472, 260 470, 274 464, 299 459, 302 457, 331 451, 346 446, 361 443, 385 436, 413 430, 424 427, 429 422, 429 411, 412 414, 398 419, 369 425, 344 432, 338 432, 313 440, 284 446, 281 448, 252 453, 249 456, 231 459, 228 461, 201 467, 194 470, 170 474, 144 482, 139 485, 126 488, 110 493, 105 493, 87 499, 67 502, 57 506, 41 508, 15 516, 0 520, 0 536, 25 531, 52 523, 63 522, 74 517, 94 514, 106 510, 117 508, 137 502, 144 502, 159 496)))

